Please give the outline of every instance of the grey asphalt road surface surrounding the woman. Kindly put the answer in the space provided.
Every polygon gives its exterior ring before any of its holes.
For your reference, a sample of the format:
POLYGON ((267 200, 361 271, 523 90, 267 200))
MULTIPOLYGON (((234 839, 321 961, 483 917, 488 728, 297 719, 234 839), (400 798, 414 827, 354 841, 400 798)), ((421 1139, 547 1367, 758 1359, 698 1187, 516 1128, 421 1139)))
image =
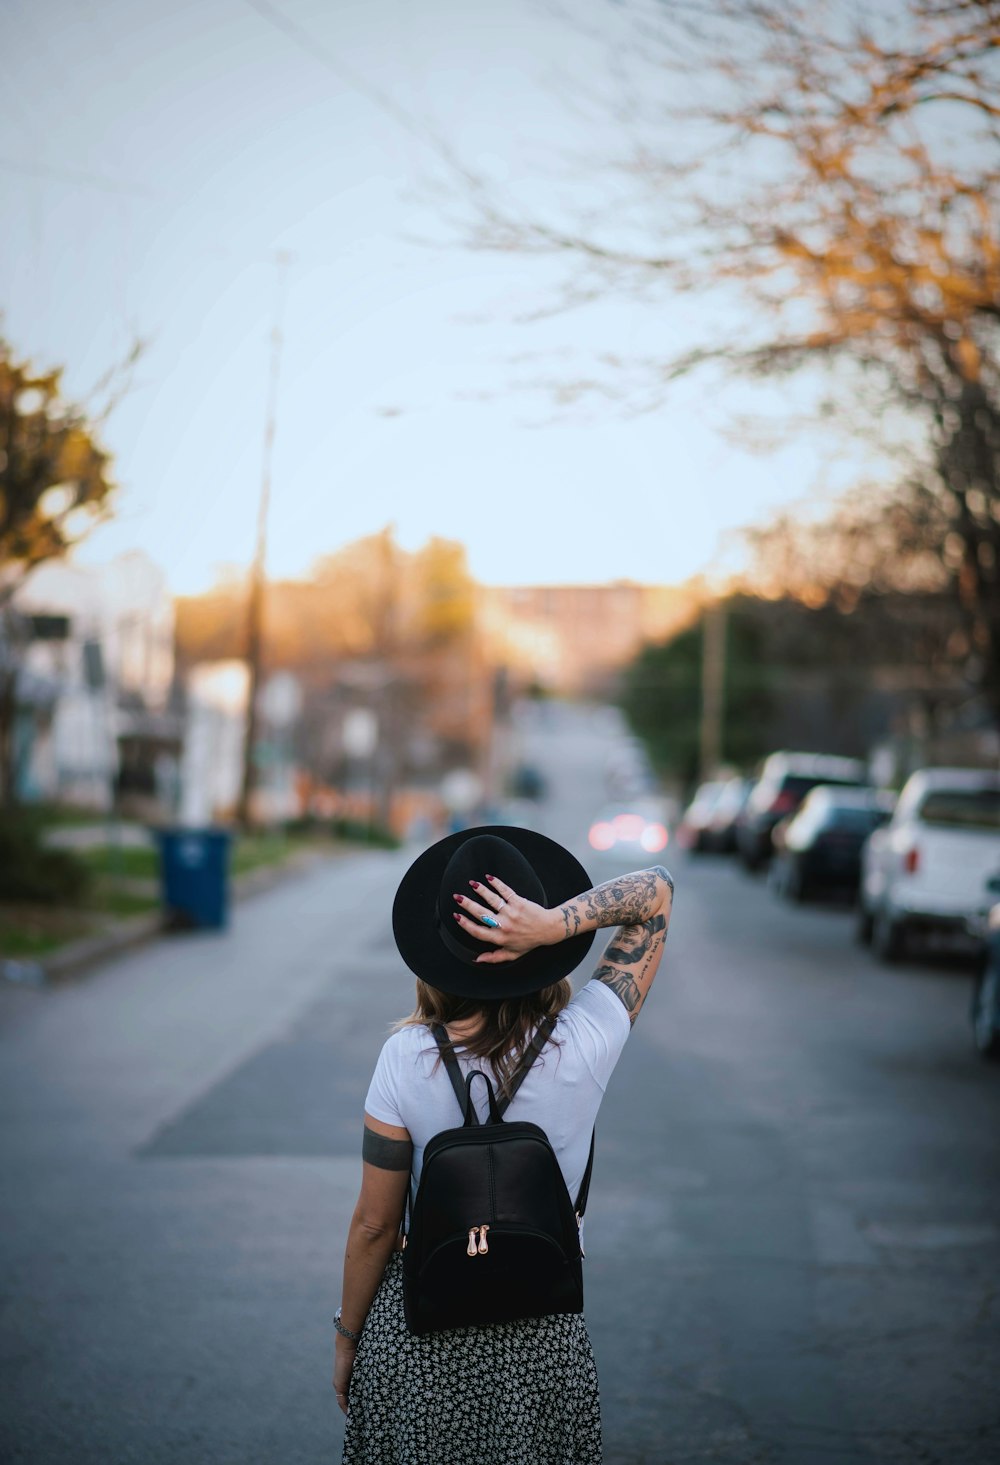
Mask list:
MULTIPOLYGON (((621 734, 540 718, 540 825, 583 853, 621 734)), ((329 1318, 367 1077, 411 995, 388 921, 410 857, 0 1001, 3 1461, 340 1459, 329 1318)), ((587 1216, 608 1465, 996 1462, 1000 1071, 971 1053, 968 974, 881 968, 843 911, 668 863, 587 1216)))

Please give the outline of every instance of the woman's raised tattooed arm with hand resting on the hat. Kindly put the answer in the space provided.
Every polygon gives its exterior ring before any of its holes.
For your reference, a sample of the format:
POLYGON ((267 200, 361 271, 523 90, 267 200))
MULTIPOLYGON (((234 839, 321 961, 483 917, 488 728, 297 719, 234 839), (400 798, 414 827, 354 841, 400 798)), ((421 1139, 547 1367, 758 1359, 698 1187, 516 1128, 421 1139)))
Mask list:
POLYGON ((552 910, 524 900, 493 875, 470 880, 473 895, 455 892, 455 920, 488 948, 477 961, 515 961, 534 946, 551 946, 581 932, 618 926, 594 971, 635 1021, 660 964, 671 920, 673 879, 656 864, 605 880, 552 910))

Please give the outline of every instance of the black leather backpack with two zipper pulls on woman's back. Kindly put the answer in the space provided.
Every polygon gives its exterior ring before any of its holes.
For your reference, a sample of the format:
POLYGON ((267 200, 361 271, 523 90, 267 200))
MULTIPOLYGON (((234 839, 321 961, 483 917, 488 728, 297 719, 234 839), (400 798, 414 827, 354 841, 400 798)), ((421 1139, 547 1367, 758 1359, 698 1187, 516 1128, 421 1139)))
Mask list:
POLYGON ((580 1231, 593 1135, 574 1207, 545 1130, 527 1121, 504 1122, 553 1026, 552 1020, 539 1026, 499 1102, 482 1069, 463 1080, 448 1034, 433 1028, 464 1124, 435 1134, 423 1153, 403 1251, 403 1302, 411 1333, 583 1311, 580 1231), (486 1084, 489 1124, 479 1122, 471 1102, 476 1078, 486 1084))

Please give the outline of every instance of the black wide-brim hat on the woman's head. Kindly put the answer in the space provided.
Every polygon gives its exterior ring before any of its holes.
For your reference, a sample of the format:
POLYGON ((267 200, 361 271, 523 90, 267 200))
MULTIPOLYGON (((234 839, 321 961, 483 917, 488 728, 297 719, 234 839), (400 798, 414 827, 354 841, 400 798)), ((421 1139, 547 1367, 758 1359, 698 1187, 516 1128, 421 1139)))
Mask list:
POLYGON ((413 861, 395 892, 392 935, 410 971, 439 992, 483 1001, 526 996, 568 977, 590 951, 594 932, 536 946, 515 961, 476 963, 495 948, 461 929, 454 895, 474 900, 469 882, 482 885, 486 875, 549 910, 593 883, 575 856, 534 829, 483 825, 449 834, 413 861))

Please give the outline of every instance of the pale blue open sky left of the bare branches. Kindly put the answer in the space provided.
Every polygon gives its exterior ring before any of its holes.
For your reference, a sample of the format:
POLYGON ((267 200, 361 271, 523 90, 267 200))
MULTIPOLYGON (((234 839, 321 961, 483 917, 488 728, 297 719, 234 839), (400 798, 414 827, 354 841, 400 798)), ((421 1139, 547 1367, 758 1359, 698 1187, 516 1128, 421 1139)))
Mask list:
POLYGON ((738 445, 734 415, 780 426, 808 387, 688 378, 640 415, 536 385, 682 349, 700 309, 546 314, 561 268, 464 248, 429 133, 529 207, 615 151, 571 104, 605 47, 545 0, 4 0, 0 45, 0 328, 78 396, 146 343, 88 563, 141 546, 177 593, 249 563, 278 299, 277 577, 392 523, 461 539, 483 583, 676 583, 867 470, 738 445))

